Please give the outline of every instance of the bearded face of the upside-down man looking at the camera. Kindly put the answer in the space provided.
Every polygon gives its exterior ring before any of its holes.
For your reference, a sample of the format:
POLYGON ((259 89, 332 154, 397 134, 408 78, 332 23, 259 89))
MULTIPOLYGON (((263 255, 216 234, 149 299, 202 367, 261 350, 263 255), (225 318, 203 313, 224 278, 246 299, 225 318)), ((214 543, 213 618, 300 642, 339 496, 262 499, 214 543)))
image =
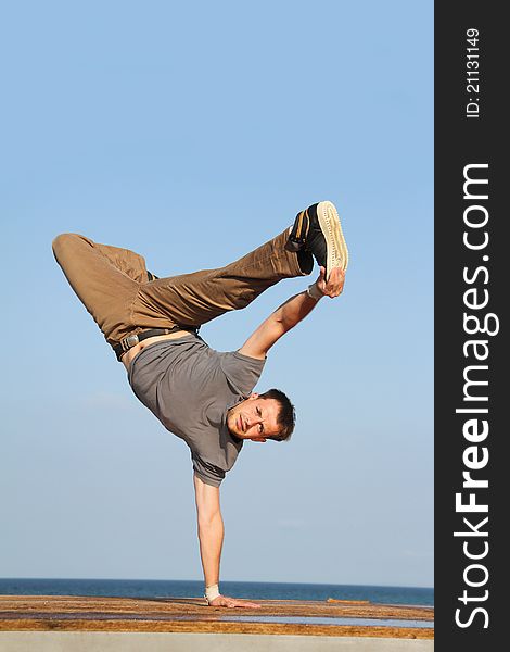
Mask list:
POLYGON ((253 393, 238 403, 227 413, 227 426, 232 435, 240 439, 266 441, 268 437, 279 435, 277 425, 280 405, 275 399, 259 399, 253 393))

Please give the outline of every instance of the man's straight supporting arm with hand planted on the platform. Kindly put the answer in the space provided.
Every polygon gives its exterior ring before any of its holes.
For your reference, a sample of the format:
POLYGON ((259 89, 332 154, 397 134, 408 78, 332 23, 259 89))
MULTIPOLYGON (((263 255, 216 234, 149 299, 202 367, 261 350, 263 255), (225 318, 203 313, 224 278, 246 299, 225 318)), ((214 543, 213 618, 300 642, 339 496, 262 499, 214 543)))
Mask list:
MULTIPOLYGON (((195 488, 196 515, 199 521, 200 556, 204 569, 205 586, 219 585, 219 563, 224 544, 224 519, 219 506, 219 487, 203 482, 196 474, 193 477, 195 488)), ((218 595, 209 600, 211 606, 257 607, 259 604, 245 600, 234 600, 218 595)))

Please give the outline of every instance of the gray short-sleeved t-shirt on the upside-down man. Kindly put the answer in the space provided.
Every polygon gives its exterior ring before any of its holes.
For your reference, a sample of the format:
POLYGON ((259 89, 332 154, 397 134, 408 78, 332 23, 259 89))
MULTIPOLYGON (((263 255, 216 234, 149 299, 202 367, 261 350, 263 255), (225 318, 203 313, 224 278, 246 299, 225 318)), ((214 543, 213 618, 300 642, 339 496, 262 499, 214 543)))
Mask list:
POLYGON ((250 396, 264 363, 187 335, 143 349, 128 378, 137 398, 190 447, 200 479, 219 487, 243 446, 227 428, 227 410, 250 396))

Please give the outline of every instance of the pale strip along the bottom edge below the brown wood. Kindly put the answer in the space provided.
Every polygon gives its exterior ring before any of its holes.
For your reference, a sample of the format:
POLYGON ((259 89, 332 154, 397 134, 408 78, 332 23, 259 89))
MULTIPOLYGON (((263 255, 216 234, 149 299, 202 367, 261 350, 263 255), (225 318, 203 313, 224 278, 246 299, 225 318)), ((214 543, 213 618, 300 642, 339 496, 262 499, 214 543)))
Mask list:
POLYGON ((433 652, 429 639, 253 634, 0 631, 1 652, 433 652))

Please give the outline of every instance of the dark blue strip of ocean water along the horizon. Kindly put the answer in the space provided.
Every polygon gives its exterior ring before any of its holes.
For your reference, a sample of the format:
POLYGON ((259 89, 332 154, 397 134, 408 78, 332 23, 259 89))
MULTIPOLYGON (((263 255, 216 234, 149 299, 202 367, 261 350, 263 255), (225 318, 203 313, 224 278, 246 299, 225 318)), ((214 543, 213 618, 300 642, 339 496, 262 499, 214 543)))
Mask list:
MULTIPOLYGON (((324 584, 221 581, 221 592, 252 600, 369 600, 379 604, 433 606, 434 589, 324 584)), ((202 581, 154 579, 1 579, 0 595, 200 598, 202 581)))

